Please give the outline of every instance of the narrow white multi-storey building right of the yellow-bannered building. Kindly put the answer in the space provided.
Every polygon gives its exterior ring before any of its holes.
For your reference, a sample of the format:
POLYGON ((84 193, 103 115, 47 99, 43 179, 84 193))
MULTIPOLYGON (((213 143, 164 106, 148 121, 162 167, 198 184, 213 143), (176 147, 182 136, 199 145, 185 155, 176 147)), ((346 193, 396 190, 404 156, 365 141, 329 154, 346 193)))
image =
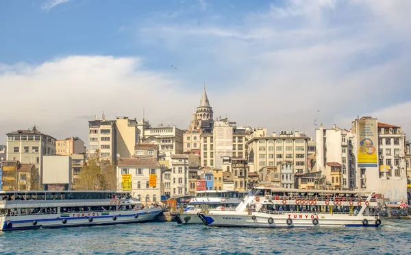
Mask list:
MULTIPOLYGON (((188 155, 171 155, 171 197, 188 195, 188 155)), ((164 187, 169 180, 164 180, 164 187)))

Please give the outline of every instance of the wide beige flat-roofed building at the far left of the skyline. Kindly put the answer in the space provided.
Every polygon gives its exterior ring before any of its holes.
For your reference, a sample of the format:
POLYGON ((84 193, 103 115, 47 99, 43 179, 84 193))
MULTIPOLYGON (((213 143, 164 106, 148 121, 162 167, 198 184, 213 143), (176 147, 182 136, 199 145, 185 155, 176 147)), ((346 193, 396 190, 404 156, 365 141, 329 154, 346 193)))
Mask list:
POLYGON ((17 130, 7 135, 7 160, 33 164, 42 176, 42 156, 55 154, 55 138, 36 129, 17 130))

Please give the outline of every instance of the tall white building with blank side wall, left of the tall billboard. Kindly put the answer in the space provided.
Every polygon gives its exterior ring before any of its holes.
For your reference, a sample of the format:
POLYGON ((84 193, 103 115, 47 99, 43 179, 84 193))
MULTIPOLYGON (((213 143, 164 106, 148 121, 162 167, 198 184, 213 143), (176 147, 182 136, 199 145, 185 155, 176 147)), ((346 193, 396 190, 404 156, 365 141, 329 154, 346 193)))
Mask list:
POLYGON ((357 186, 356 156, 354 151, 355 134, 333 125, 325 129, 321 124, 316 130, 316 171, 325 175, 326 186, 332 186, 332 177, 327 171, 327 163, 341 165, 342 189, 355 189, 357 186))

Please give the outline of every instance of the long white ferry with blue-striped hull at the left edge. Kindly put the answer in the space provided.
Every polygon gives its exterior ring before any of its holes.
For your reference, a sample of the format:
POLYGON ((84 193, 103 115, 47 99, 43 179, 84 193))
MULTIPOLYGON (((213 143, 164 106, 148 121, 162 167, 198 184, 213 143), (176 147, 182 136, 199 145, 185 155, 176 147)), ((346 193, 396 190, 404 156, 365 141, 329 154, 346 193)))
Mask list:
POLYGON ((161 212, 116 191, 0 192, 3 231, 137 223, 151 221, 161 212))

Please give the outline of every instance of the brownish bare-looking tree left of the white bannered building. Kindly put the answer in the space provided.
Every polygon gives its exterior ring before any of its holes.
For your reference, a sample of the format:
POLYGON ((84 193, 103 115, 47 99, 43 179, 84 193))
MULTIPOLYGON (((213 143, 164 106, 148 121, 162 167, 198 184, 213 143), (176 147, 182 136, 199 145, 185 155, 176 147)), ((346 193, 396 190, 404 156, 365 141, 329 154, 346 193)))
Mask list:
POLYGON ((89 160, 88 164, 80 171, 76 190, 79 191, 115 191, 116 167, 110 165, 98 165, 96 160, 89 160))

